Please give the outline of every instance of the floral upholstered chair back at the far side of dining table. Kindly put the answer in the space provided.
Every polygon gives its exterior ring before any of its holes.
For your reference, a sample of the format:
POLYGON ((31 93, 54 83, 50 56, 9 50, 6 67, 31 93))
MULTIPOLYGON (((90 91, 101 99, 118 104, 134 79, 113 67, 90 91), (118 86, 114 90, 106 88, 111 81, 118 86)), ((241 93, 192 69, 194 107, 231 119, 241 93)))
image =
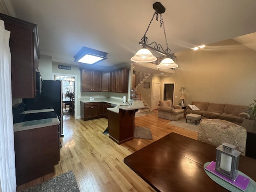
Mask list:
POLYGON ((202 119, 197 140, 216 147, 226 142, 236 146, 236 150, 245 156, 246 129, 238 124, 220 119, 202 119))

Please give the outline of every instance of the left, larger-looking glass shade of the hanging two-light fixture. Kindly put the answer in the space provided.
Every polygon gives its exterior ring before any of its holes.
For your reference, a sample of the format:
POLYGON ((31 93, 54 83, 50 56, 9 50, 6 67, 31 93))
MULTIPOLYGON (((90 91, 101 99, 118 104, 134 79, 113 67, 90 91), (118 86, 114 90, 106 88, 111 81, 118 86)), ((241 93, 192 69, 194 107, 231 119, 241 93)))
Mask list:
POLYGON ((157 58, 146 48, 138 50, 138 52, 131 58, 131 61, 140 63, 148 63, 156 60, 157 58))

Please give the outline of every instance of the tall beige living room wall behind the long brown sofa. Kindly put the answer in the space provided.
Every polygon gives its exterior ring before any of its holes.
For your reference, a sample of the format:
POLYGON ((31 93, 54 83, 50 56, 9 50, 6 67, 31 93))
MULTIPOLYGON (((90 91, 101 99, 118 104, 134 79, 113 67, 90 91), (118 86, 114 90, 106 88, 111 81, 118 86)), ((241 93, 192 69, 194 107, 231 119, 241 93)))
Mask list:
POLYGON ((162 77, 162 83, 176 84, 174 104, 181 102, 181 87, 185 87, 185 104, 202 101, 247 106, 256 99, 256 52, 236 41, 225 40, 176 56, 176 74, 162 77))

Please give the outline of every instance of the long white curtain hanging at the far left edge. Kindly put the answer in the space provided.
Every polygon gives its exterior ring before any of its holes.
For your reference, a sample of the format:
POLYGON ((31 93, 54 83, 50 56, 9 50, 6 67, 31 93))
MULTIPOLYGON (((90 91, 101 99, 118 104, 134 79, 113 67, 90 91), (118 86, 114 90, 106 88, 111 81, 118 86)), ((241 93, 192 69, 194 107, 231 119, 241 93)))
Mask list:
POLYGON ((9 38, 0 20, 0 192, 16 192, 9 38))

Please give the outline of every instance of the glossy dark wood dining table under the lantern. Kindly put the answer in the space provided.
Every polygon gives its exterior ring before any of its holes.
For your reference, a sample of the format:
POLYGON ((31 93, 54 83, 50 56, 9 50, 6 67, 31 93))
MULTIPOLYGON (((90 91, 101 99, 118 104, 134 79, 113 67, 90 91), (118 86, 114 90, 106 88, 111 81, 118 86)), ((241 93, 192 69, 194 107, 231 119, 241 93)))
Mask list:
MULTIPOLYGON (((204 171, 216 161, 216 147, 170 133, 124 158, 136 174, 161 192, 228 192, 204 171)), ((240 156, 238 170, 256 181, 256 160, 240 156)))

